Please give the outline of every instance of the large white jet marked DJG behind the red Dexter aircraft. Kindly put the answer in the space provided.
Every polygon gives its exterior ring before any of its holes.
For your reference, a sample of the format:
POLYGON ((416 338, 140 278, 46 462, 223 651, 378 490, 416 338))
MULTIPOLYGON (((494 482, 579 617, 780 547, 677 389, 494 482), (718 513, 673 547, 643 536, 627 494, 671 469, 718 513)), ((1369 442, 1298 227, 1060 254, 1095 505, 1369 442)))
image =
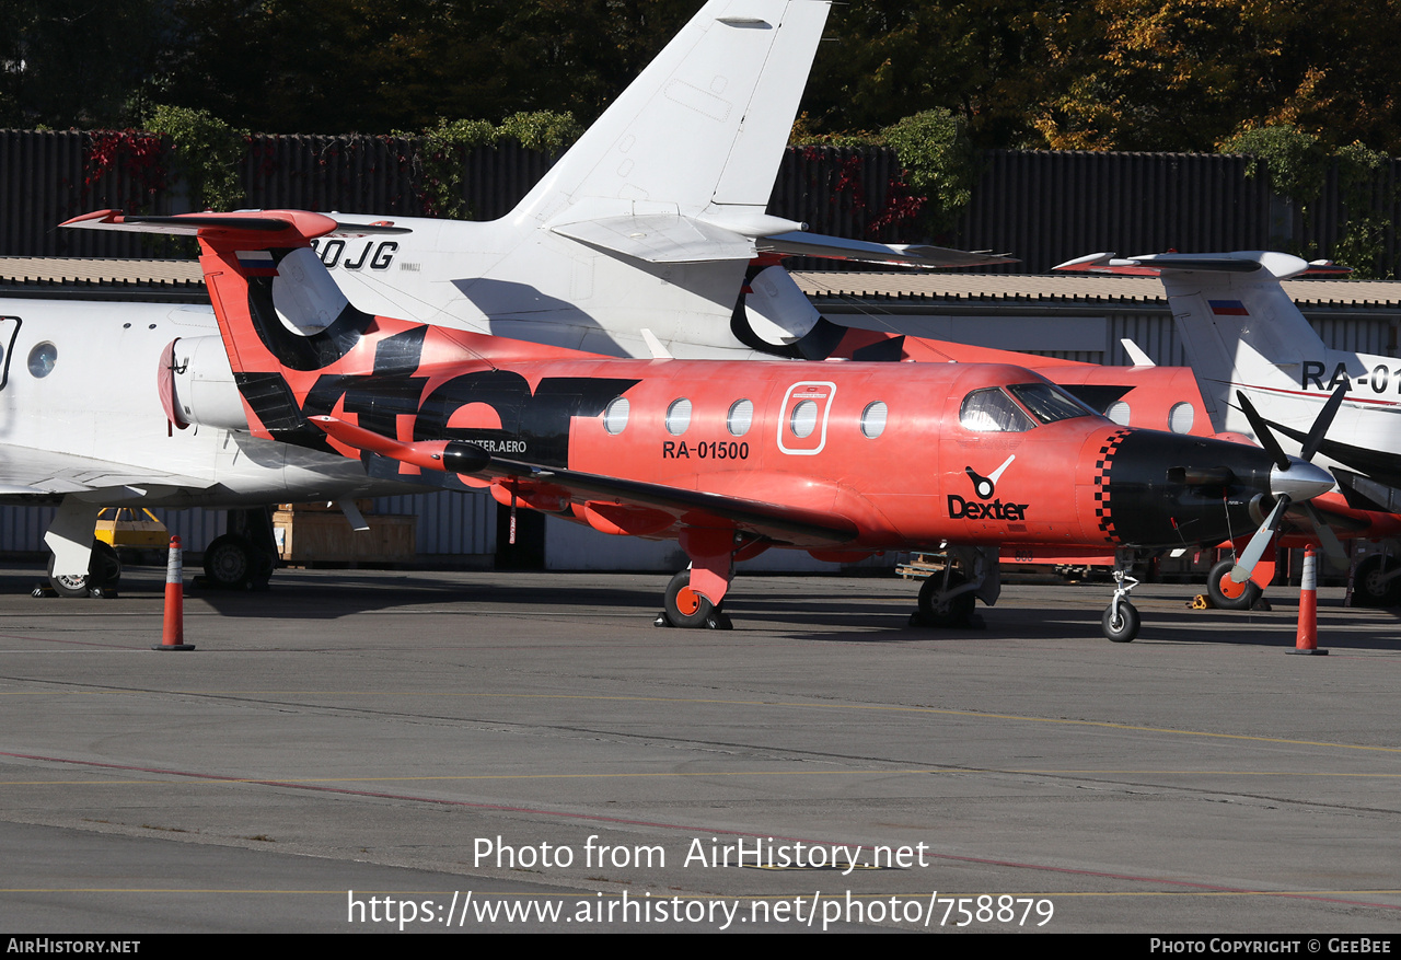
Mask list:
MULTIPOLYGON (((356 297, 419 320, 600 353, 675 342, 678 355, 720 345, 730 356, 754 352, 729 327, 759 251, 1005 261, 789 235, 801 224, 765 214, 828 8, 709 0, 509 217, 352 227, 318 237, 321 256, 356 297), (702 345, 686 342, 691 329, 705 331, 702 345)), ((762 294, 754 303, 740 313, 759 317, 762 294)), ((801 341, 818 325, 803 306, 778 321, 797 334, 755 322, 771 339, 801 341)), ((343 458, 241 433, 216 334, 199 308, 0 301, 0 499, 59 505, 45 535, 56 589, 83 594, 119 575, 115 552, 92 554, 104 505, 340 499, 354 521, 349 498, 402 492, 343 458), (199 409, 202 423, 168 437, 163 405, 172 422, 186 405, 199 409)), ((273 559, 230 534, 206 551, 206 570, 247 583, 251 570, 254 580, 270 573, 273 559)))

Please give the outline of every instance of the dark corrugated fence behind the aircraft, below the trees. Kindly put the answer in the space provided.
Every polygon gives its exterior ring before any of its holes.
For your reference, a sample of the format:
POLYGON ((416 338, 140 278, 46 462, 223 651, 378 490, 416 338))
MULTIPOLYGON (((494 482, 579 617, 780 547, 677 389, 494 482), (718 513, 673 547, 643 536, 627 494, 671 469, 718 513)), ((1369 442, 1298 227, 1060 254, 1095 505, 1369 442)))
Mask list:
MULTIPOLYGON (((241 171, 245 203, 422 216, 422 184, 430 172, 417 149, 415 140, 399 137, 254 136, 241 171)), ((471 150, 461 163, 468 216, 493 220, 510 213, 553 157, 507 143, 471 150)), ((769 212, 807 221, 815 233, 1007 252, 1021 259, 1010 269, 1028 273, 1098 251, 1332 255, 1349 230, 1349 214, 1356 214, 1345 206, 1337 174, 1330 174, 1304 217, 1297 205, 1272 196, 1262 178, 1247 177, 1250 163, 1215 154, 993 150, 982 154, 972 202, 957 228, 926 235, 926 220, 911 216, 909 191, 892 151, 792 147, 769 212)), ((1381 273, 1397 269, 1401 252, 1394 227, 1398 163, 1370 185, 1369 210, 1384 216, 1366 255, 1381 273)), ((170 249, 151 237, 55 228, 102 207, 189 209, 160 142, 106 132, 0 130, 0 255, 151 256, 170 249), (125 140, 113 147, 113 137, 125 140)))

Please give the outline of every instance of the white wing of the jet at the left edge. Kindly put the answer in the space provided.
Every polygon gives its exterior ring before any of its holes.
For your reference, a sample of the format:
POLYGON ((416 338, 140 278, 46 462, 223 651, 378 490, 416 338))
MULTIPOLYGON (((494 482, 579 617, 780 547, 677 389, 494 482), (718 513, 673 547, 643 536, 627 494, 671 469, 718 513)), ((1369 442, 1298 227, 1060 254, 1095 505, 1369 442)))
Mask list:
POLYGON ((0 498, 42 499, 74 495, 119 503, 184 488, 202 491, 209 479, 161 472, 92 457, 0 444, 0 498))

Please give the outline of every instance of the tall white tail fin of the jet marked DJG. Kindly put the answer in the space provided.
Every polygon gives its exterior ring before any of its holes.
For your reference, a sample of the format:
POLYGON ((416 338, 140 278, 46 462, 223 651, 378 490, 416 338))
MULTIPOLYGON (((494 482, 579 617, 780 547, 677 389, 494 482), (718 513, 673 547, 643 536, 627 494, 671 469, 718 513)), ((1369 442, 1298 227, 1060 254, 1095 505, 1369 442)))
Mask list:
POLYGON ((762 214, 828 10, 827 0, 709 0, 513 219, 762 214))

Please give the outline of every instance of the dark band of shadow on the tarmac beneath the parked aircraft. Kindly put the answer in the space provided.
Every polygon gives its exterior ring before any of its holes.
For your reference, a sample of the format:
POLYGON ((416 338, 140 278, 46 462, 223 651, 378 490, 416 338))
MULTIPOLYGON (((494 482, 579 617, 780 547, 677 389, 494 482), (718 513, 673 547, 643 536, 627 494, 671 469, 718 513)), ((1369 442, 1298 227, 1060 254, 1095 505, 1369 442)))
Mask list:
MULTIPOLYGON (((164 570, 127 568, 115 600, 34 600, 35 604, 120 604, 123 600, 160 600, 164 570)), ((622 621, 650 622, 660 610, 664 577, 590 576, 559 577, 551 573, 509 573, 482 579, 472 572, 455 575, 419 575, 415 572, 336 570, 315 579, 291 576, 273 582, 263 591, 207 590, 186 579, 186 603, 206 603, 223 617, 342 619, 367 611, 395 610, 425 604, 461 604, 464 610, 523 610, 549 604, 553 610, 616 611, 622 621), (504 580, 504 582, 503 582, 504 580)), ((42 577, 24 570, 0 573, 0 593, 25 594, 42 577)), ((743 580, 740 582, 743 584, 743 580)), ((1189 611, 1159 600, 1145 608, 1143 635, 1138 645, 1231 645, 1292 647, 1297 598, 1271 597, 1271 612, 1189 611)), ((736 591, 726 612, 737 631, 773 631, 787 639, 841 643, 923 643, 984 642, 996 638, 1023 640, 1089 640, 1104 643, 1098 632, 1101 608, 1084 605, 1005 603, 996 608, 978 607, 974 626, 922 628, 909 625, 915 594, 908 601, 888 591, 880 596, 824 596, 811 589, 736 591)), ((1318 645, 1328 649, 1395 650, 1401 649, 1401 611, 1344 608, 1337 600, 1324 600, 1318 608, 1318 645)), ((658 632, 658 642, 682 642, 682 631, 658 632)))

